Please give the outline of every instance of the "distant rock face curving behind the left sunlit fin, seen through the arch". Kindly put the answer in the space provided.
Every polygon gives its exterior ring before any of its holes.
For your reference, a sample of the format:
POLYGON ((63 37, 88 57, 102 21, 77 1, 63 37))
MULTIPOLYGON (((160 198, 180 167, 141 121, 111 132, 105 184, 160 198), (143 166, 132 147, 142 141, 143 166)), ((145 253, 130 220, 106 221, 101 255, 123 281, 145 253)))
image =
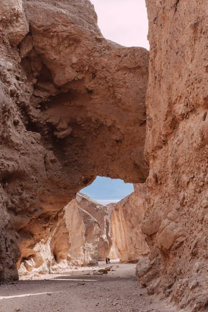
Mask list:
POLYGON ((89 196, 78 193, 76 196, 79 207, 94 217, 101 228, 98 243, 98 260, 104 261, 112 246, 111 222, 108 215, 108 209, 91 199, 89 196))

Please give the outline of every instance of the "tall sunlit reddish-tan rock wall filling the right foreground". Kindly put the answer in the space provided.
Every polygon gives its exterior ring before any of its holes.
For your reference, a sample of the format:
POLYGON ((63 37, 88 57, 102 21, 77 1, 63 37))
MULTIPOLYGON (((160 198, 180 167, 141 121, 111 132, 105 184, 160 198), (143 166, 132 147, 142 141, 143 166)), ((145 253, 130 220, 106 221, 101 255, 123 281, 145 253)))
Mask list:
POLYGON ((150 293, 162 289, 181 307, 204 310, 208 305, 208 3, 146 4, 150 76, 145 157, 150 171, 142 230, 151 253, 146 272, 142 274, 141 263, 137 271, 141 277, 157 267, 154 277, 160 277, 149 287, 150 293))

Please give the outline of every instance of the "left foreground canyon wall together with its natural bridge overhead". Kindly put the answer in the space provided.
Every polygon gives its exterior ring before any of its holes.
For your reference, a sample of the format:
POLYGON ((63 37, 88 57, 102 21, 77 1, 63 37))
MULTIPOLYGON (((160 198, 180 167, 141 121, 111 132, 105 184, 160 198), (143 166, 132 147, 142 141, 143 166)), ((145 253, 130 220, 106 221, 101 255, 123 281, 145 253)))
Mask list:
POLYGON ((145 180, 147 80, 148 51, 105 40, 88 0, 1 1, 0 283, 97 174, 145 180))

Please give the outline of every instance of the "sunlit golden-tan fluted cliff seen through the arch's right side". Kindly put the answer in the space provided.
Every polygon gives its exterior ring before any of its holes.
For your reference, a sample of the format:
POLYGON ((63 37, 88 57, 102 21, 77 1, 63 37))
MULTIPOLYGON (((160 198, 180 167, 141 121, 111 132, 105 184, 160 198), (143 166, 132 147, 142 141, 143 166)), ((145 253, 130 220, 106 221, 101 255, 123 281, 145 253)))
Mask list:
POLYGON ((121 262, 137 262, 148 256, 149 247, 141 231, 146 185, 135 184, 134 192, 113 207, 111 216, 113 243, 121 262))

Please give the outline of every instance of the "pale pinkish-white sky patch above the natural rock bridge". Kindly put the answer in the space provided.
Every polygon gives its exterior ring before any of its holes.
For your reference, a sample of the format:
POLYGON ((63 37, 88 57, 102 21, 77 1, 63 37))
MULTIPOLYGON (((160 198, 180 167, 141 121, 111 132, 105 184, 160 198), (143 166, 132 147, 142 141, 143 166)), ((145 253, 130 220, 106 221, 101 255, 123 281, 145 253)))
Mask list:
POLYGON ((106 39, 123 46, 149 50, 145 0, 90 0, 98 15, 98 26, 106 39))

